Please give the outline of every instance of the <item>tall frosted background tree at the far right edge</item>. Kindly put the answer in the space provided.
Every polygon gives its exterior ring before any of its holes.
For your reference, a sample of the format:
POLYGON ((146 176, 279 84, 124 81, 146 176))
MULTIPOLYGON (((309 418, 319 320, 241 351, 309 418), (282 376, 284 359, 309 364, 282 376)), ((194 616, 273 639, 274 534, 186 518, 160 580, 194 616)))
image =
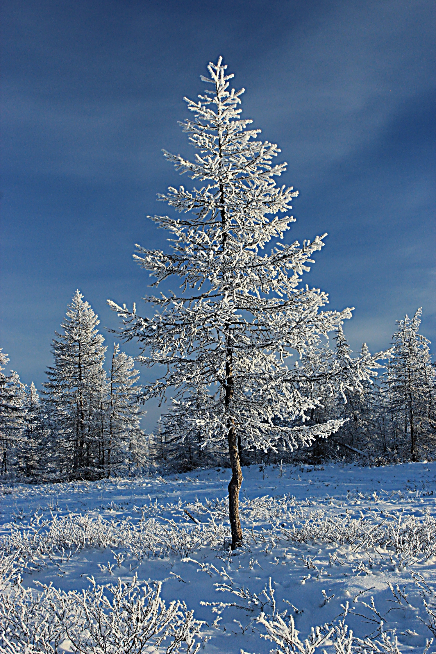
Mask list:
POLYGON ((434 455, 436 436, 435 369, 430 341, 419 333, 422 309, 412 320, 397 320, 393 357, 384 375, 392 438, 396 446, 407 443, 412 460, 418 452, 434 455))

